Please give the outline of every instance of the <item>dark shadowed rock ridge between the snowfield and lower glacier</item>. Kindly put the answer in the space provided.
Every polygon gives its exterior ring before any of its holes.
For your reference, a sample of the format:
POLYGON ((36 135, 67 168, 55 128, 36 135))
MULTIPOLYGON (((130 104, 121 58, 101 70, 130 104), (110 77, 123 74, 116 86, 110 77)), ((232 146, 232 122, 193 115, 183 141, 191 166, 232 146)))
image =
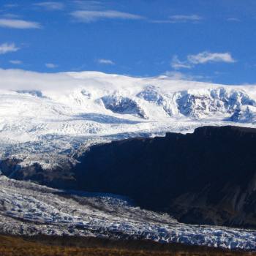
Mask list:
POLYGON ((92 146, 74 172, 80 189, 127 195, 181 222, 255 228, 255 147, 256 129, 201 127, 92 146))

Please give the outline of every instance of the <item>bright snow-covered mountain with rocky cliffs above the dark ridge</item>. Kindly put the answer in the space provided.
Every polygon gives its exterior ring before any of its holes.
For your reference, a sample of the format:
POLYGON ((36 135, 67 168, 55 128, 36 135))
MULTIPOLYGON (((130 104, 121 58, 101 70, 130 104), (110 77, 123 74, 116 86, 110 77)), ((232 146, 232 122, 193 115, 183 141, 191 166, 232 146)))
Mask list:
POLYGON ((102 141, 192 132, 203 125, 255 127, 256 86, 132 78, 100 72, 0 69, 2 158, 45 167, 102 141))

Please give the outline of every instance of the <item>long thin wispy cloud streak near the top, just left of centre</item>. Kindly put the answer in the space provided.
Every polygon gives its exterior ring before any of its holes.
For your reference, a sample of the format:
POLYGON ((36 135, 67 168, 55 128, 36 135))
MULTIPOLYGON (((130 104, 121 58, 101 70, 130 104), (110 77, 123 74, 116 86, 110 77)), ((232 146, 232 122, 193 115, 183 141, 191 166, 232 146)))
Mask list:
POLYGON ((89 10, 78 10, 71 12, 71 15, 75 20, 84 23, 90 23, 97 20, 104 19, 123 19, 123 20, 140 20, 143 19, 140 15, 134 15, 128 12, 118 12, 114 10, 104 11, 89 11, 89 10))

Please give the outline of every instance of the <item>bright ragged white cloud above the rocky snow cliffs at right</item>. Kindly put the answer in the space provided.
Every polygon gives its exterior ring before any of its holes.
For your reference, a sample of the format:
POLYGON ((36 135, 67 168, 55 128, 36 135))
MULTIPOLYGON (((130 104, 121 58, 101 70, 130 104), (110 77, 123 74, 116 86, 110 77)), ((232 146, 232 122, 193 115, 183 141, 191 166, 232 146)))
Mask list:
POLYGON ((185 61, 180 61, 177 56, 173 56, 170 65, 173 67, 173 69, 191 69, 197 64, 206 64, 212 62, 233 63, 236 62, 236 60, 233 59, 230 53, 210 53, 208 51, 204 51, 195 55, 188 55, 185 61))

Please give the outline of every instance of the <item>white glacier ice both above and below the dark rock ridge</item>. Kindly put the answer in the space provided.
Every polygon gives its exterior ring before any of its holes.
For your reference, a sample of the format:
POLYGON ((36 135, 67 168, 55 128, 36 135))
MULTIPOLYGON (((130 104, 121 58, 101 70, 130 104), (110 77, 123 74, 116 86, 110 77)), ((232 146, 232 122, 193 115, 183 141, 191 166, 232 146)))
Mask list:
MULTIPOLYGON (((256 86, 0 69, 0 158, 21 166, 75 165, 97 143, 234 124, 256 128, 256 86)), ((0 232, 256 249, 255 230, 187 225, 126 197, 15 181, 1 170, 0 232)))

